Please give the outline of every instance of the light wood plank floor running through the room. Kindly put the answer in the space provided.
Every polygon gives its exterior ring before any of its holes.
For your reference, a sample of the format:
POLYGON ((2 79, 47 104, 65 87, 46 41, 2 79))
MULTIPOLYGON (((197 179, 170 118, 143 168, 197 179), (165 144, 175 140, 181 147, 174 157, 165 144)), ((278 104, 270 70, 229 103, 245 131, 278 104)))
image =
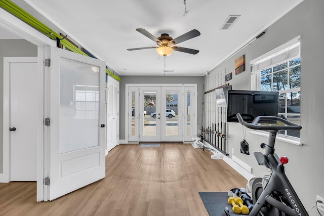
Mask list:
POLYGON ((36 202, 35 182, 0 183, 0 215, 208 215, 198 192, 227 192, 247 181, 190 144, 119 145, 106 178, 52 202, 36 202))

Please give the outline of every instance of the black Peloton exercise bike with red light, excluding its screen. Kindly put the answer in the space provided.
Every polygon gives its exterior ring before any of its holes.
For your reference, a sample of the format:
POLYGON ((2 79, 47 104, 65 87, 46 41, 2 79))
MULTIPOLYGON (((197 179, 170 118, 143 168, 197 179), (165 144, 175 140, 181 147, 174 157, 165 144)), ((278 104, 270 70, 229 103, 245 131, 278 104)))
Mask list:
POLYGON ((252 197, 254 207, 250 216, 256 215, 308 215, 305 207, 298 198, 295 190, 290 184, 286 174, 285 166, 288 158, 279 158, 274 153, 274 142, 277 133, 281 130, 300 130, 301 126, 281 116, 258 116, 251 123, 246 122, 237 113, 236 117, 242 125, 262 131, 269 132, 268 144, 261 144, 265 153, 254 152, 259 165, 264 165, 271 170, 270 175, 253 182, 252 197), (284 123, 284 125, 261 125, 260 122, 284 123))

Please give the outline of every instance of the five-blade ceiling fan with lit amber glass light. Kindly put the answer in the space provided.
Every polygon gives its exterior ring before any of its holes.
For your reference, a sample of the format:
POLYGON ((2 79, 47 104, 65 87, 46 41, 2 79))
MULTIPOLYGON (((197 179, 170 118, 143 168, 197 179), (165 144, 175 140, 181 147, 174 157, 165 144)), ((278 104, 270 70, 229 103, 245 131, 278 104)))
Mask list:
POLYGON ((193 50, 193 49, 175 46, 177 44, 180 44, 183 41, 186 41, 188 39, 199 36, 200 32, 196 29, 188 31, 187 33, 184 33, 181 36, 174 38, 174 39, 172 37, 170 37, 169 34, 161 34, 161 36, 156 38, 154 35, 152 35, 151 33, 149 33, 148 31, 146 31, 143 28, 137 28, 136 31, 144 34, 145 36, 147 36, 148 38, 150 38, 151 40, 156 42, 158 47, 141 47, 141 48, 127 49, 129 51, 154 48, 154 49, 156 49, 156 52, 160 56, 170 56, 174 50, 183 52, 183 53, 193 54, 193 55, 195 55, 199 52, 199 50, 193 50))

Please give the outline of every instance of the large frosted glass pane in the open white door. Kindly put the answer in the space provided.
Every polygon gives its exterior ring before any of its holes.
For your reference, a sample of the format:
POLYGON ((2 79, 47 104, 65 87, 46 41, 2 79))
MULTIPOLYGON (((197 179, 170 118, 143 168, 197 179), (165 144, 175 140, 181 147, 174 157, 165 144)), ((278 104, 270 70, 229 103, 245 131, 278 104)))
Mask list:
POLYGON ((61 58, 60 154, 99 145, 99 68, 61 58))

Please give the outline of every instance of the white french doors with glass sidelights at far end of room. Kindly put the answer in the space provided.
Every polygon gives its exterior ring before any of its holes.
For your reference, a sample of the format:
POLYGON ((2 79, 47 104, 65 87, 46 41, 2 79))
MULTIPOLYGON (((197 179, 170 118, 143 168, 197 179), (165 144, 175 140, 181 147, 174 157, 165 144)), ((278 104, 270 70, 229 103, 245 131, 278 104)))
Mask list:
POLYGON ((191 142, 195 86, 127 87, 129 142, 191 142))

